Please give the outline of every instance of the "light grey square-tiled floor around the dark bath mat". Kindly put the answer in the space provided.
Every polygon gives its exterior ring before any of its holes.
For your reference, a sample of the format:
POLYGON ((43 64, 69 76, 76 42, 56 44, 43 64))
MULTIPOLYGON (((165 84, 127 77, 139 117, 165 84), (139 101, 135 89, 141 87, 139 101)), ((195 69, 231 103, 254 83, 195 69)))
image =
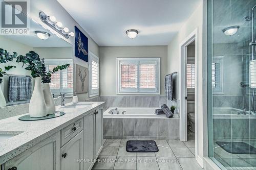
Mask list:
MULTIPOLYGON (((106 139, 92 169, 199 170, 195 159, 195 140, 155 140, 159 152, 126 152, 129 139, 106 139)), ((134 140, 134 139, 133 139, 134 140)), ((143 140, 143 139, 138 139, 143 140)))

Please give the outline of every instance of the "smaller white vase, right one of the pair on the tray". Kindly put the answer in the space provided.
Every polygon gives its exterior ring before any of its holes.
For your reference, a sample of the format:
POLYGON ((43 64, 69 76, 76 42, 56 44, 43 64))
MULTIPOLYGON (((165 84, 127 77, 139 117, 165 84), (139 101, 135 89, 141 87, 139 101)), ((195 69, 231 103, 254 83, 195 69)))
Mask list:
POLYGON ((56 109, 55 109, 55 102, 52 96, 52 92, 50 90, 50 84, 49 83, 42 84, 42 91, 44 92, 47 114, 54 114, 56 109))

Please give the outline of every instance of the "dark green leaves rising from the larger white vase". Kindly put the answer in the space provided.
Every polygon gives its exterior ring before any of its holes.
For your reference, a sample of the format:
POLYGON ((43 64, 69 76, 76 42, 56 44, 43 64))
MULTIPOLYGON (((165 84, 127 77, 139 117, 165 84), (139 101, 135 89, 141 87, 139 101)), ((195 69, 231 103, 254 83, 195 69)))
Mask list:
POLYGON ((27 53, 26 56, 18 56, 16 62, 22 62, 22 67, 24 67, 24 65, 27 65, 25 69, 31 71, 31 76, 33 78, 40 77, 46 70, 45 63, 41 61, 39 55, 33 51, 27 53))

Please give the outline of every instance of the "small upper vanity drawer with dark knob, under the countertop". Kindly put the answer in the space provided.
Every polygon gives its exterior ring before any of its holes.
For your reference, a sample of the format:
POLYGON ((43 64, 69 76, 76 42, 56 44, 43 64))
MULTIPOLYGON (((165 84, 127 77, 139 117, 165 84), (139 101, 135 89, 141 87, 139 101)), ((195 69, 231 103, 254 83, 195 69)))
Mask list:
POLYGON ((60 131, 61 146, 83 130, 83 119, 79 119, 60 131))

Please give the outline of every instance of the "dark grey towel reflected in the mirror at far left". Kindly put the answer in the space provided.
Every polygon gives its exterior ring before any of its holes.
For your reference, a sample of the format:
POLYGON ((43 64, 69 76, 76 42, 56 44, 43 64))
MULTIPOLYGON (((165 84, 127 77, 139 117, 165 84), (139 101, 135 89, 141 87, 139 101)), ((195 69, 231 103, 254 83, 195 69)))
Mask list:
POLYGON ((31 98, 31 77, 9 77, 9 101, 24 101, 31 98))

